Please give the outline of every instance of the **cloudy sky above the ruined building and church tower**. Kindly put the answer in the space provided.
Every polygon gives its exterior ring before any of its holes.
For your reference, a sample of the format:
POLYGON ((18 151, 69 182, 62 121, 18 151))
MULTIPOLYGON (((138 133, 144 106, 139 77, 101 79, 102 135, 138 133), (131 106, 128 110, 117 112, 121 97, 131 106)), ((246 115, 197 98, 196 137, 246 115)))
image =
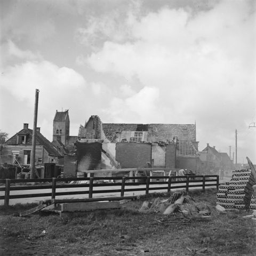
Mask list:
POLYGON ((56 109, 70 135, 103 123, 194 124, 206 143, 256 163, 255 1, 0 2, 0 129, 23 123, 52 140, 56 109))

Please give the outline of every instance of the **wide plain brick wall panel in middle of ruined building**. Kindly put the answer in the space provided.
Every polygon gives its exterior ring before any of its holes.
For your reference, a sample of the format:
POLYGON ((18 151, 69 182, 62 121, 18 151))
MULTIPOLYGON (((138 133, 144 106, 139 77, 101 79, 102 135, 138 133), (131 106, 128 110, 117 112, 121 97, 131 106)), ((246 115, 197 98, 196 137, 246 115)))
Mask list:
POLYGON ((151 145, 149 143, 116 143, 116 161, 122 168, 145 167, 151 163, 151 145))

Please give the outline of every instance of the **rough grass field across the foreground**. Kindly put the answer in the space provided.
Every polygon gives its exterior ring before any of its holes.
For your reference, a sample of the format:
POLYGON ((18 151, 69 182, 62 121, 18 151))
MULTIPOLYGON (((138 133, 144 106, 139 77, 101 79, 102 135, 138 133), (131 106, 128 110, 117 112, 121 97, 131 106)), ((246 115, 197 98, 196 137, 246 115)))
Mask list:
MULTIPOLYGON (((121 210, 15 217, 35 205, 0 208, 0 255, 255 255, 256 222, 245 211, 215 210, 217 190, 189 193, 206 203, 212 220, 165 225, 160 213, 138 211, 143 197, 121 210), (45 233, 42 234, 42 231, 45 233)), ((162 198, 167 198, 162 194, 162 198)))

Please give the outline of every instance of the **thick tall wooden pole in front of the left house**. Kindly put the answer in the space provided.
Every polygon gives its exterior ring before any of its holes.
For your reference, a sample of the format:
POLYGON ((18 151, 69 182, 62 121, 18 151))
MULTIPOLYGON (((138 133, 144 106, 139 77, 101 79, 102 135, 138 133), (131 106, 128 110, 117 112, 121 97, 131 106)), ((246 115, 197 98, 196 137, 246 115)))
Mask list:
POLYGON ((32 151, 31 151, 31 159, 30 159, 30 179, 35 179, 35 174, 36 174, 35 156, 36 156, 36 125, 37 125, 38 94, 39 94, 39 90, 36 89, 34 127, 33 127, 33 135, 32 135, 32 151))

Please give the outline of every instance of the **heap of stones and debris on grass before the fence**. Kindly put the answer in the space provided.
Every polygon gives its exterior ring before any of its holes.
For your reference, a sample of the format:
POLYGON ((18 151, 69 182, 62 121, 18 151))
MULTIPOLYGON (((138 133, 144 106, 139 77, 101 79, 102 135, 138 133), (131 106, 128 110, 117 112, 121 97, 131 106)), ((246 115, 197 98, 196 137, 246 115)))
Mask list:
POLYGON ((139 211, 143 213, 159 212, 166 215, 156 220, 165 225, 211 219, 210 207, 205 203, 195 202, 185 191, 175 192, 167 199, 158 197, 153 202, 145 201, 139 211))

